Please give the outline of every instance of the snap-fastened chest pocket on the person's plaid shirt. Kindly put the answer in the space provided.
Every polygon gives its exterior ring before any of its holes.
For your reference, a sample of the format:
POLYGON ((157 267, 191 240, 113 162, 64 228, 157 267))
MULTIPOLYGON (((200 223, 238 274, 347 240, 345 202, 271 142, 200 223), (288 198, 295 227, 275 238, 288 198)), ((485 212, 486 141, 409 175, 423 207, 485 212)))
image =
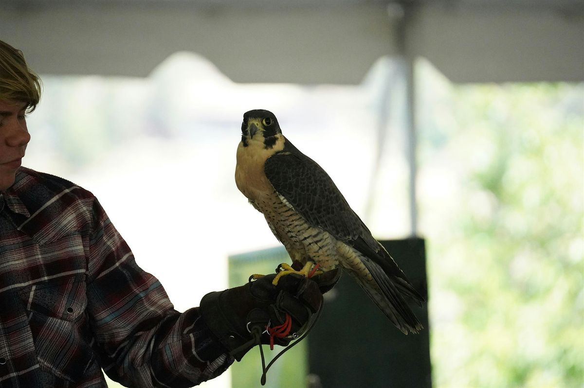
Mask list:
POLYGON ((40 368, 75 382, 95 363, 89 342, 85 277, 20 290, 40 368))

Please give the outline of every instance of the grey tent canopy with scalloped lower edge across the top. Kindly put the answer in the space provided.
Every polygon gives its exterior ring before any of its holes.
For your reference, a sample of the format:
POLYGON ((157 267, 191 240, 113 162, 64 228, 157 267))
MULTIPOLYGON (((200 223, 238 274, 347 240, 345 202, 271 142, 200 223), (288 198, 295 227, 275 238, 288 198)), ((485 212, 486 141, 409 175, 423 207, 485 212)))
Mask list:
POLYGON ((359 83, 383 55, 453 82, 584 81, 582 0, 4 0, 41 74, 147 76, 194 51, 237 82, 359 83))

